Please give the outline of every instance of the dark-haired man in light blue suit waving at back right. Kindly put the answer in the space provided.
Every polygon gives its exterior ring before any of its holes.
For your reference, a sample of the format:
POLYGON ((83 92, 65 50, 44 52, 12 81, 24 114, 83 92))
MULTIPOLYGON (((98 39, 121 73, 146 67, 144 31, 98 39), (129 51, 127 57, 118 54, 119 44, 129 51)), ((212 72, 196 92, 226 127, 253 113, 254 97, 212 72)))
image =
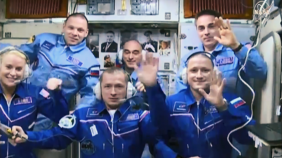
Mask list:
MULTIPOLYGON (((197 13, 195 25, 202 43, 181 59, 176 77, 175 91, 177 93, 188 86, 181 79, 181 72, 185 68, 187 58, 193 52, 205 51, 215 56, 215 64, 219 71, 222 72, 223 77, 226 78, 224 91, 234 92, 250 104, 252 92, 239 79, 238 71, 245 63, 248 48, 251 47, 251 44, 238 42, 231 30, 229 20, 225 23, 221 16, 220 13, 213 10, 202 10, 197 13)), ((240 76, 248 84, 250 84, 250 78, 266 80, 266 62, 254 48, 250 50, 245 68, 240 72, 240 76)), ((243 153, 246 153, 247 146, 236 145, 237 142, 234 142, 235 146, 238 146, 244 151, 243 153)), ((236 154, 233 157, 236 157, 236 154)))

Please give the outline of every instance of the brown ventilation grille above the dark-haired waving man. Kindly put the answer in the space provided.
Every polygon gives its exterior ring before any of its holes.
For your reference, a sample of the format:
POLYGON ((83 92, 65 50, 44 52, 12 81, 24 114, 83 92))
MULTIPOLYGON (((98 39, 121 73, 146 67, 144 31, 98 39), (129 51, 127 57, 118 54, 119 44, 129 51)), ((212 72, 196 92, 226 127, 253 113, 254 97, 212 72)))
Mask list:
POLYGON ((198 12, 212 9, 223 18, 252 19, 253 1, 250 0, 184 0, 184 17, 195 17, 198 12))

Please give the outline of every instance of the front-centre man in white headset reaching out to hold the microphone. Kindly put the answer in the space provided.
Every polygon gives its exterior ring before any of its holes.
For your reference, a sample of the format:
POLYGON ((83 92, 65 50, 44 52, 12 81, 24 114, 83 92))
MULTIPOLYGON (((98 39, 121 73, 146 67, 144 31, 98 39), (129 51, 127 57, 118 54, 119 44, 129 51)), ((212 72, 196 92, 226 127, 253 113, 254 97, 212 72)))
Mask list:
POLYGON ((25 133, 13 126, 12 131, 19 137, 11 141, 61 150, 76 140, 81 143, 81 158, 140 158, 146 143, 158 143, 156 128, 150 121, 150 111, 142 109, 146 107, 143 99, 133 96, 136 90, 128 80, 123 69, 106 69, 94 89, 99 102, 77 109, 61 119, 60 127, 48 131, 25 133))

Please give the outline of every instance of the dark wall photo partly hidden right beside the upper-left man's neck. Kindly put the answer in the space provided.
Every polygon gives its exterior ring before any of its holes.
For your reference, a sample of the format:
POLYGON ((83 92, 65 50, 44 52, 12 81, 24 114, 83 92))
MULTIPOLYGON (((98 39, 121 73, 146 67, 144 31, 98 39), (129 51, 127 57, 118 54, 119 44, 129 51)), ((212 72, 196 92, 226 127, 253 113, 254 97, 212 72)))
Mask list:
POLYGON ((91 50, 92 54, 99 58, 99 34, 89 33, 86 37, 86 46, 91 50))

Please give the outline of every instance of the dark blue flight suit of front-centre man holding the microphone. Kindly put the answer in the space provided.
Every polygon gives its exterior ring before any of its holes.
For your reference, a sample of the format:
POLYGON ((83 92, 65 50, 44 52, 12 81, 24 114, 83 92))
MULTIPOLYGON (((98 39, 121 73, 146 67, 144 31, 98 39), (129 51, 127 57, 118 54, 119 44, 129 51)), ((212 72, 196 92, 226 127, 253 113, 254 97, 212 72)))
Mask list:
POLYGON ((27 131, 32 142, 26 143, 42 149, 61 150, 76 140, 81 144, 82 158, 140 158, 146 143, 157 143, 156 128, 146 108, 149 110, 143 105, 143 99, 134 96, 125 101, 111 118, 105 103, 99 101, 92 107, 82 107, 71 114, 76 119, 74 127, 27 131))

